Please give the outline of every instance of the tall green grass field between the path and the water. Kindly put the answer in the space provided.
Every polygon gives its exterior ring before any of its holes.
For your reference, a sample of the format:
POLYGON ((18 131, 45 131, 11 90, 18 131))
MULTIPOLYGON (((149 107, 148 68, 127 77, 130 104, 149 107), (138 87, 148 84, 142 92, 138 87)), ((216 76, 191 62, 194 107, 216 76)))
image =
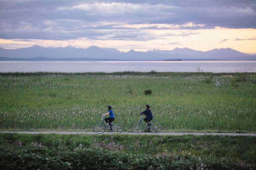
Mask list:
POLYGON ((0 94, 1 130, 91 131, 111 104, 131 131, 150 104, 162 132, 256 132, 256 73, 0 73, 0 94))

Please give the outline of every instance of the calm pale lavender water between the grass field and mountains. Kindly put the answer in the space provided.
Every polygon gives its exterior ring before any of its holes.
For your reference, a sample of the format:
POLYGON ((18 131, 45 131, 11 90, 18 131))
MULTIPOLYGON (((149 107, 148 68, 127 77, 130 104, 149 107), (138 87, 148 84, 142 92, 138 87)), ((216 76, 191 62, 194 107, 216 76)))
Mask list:
POLYGON ((0 61, 0 72, 256 72, 256 61, 0 61), (249 70, 248 70, 249 69, 249 70))

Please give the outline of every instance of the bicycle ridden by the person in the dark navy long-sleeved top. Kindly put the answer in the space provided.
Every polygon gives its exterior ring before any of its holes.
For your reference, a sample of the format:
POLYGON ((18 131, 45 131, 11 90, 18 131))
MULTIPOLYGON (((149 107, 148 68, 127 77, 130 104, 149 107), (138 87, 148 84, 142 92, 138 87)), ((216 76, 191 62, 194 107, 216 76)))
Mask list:
MULTIPOLYGON (((140 133, 143 130, 143 124, 144 124, 144 126, 147 126, 142 120, 143 119, 142 119, 142 115, 141 115, 141 120, 136 121, 132 124, 133 132, 140 133), (141 123, 141 122, 143 122, 143 123, 141 123)), ((149 123, 151 123, 151 122, 149 121, 149 123)), ((147 127, 147 130, 150 129, 151 132, 158 133, 158 132, 160 132, 161 128, 162 128, 161 124, 159 122, 155 121, 155 122, 151 123, 150 127, 147 127)))

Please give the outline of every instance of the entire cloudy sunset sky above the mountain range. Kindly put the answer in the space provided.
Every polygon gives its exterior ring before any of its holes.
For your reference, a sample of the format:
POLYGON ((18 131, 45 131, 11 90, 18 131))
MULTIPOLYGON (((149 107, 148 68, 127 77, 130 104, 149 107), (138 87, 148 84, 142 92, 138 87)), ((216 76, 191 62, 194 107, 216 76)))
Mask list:
POLYGON ((0 0, 0 47, 256 53, 256 1, 0 0))

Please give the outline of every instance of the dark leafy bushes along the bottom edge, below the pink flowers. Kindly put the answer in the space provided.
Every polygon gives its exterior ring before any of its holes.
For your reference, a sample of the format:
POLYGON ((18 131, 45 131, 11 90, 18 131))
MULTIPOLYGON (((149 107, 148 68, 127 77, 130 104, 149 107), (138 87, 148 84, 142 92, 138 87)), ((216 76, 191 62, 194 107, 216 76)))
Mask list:
POLYGON ((233 163, 226 159, 201 159, 195 155, 172 153, 128 154, 99 147, 71 151, 44 146, 0 146, 1 169, 249 169, 255 164, 233 163))

